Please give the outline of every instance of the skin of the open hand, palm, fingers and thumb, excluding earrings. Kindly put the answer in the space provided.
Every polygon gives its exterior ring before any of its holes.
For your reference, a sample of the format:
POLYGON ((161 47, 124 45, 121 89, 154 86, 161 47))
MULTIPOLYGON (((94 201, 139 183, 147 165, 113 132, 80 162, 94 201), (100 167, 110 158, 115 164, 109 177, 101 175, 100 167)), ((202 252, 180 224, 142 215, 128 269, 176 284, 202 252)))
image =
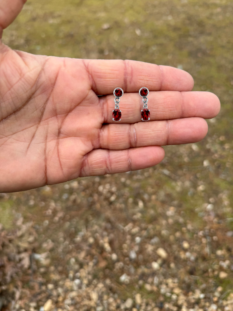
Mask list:
MULTIPOLYGON (((24 2, 1 0, 1 37, 24 2)), ((2 41, 0 77, 0 192, 157 165, 161 146, 200 141, 204 118, 220 109, 216 95, 191 92, 193 79, 180 69, 33 55, 2 41), (142 86, 150 91, 148 122, 140 117, 142 86), (124 90, 120 122, 112 120, 116 87, 124 90)))

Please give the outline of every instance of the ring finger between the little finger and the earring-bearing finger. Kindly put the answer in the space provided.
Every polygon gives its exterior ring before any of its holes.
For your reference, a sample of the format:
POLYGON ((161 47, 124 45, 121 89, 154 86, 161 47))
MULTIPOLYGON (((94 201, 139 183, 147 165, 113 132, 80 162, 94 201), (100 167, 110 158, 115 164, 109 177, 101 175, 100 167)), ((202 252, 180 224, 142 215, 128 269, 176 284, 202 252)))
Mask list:
POLYGON ((97 148, 123 150, 143 146, 165 146, 198 142, 208 131, 203 118, 107 124, 99 130, 97 148))

